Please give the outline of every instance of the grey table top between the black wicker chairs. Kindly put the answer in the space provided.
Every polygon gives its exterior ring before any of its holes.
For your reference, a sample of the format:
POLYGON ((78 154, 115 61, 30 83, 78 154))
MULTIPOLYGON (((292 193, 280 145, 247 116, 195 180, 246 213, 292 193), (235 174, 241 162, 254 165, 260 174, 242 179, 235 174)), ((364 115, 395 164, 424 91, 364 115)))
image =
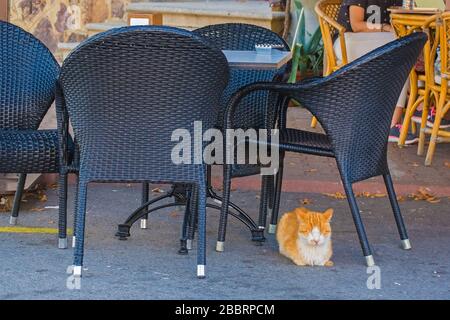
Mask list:
POLYGON ((272 49, 271 54, 261 54, 256 51, 223 50, 230 68, 275 70, 280 69, 292 59, 290 51, 272 49))

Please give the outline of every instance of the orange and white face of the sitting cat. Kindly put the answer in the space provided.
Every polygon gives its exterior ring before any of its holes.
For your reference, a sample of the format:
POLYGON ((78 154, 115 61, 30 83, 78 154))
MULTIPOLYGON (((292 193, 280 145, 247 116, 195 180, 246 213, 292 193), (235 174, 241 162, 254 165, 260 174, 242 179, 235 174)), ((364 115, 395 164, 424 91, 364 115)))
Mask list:
POLYGON ((299 220, 298 236, 301 241, 310 246, 321 246, 330 240, 333 209, 324 213, 310 211, 306 208, 297 208, 295 213, 299 220))

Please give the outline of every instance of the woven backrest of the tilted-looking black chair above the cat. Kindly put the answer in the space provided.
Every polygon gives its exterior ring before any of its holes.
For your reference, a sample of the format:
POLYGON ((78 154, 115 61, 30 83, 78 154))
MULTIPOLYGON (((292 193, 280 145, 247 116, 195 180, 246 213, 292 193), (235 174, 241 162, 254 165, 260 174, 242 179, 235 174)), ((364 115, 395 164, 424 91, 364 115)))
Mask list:
POLYGON ((387 173, 390 120, 426 39, 421 32, 388 43, 292 95, 322 124, 346 182, 387 173))

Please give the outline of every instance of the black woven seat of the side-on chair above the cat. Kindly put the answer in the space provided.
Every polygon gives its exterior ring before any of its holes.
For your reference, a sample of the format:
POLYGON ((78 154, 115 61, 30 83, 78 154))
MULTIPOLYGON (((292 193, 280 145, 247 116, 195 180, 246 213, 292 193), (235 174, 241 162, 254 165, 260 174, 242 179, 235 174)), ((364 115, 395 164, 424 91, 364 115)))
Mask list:
POLYGON ((333 148, 327 135, 298 129, 281 130, 280 149, 334 157, 333 148))

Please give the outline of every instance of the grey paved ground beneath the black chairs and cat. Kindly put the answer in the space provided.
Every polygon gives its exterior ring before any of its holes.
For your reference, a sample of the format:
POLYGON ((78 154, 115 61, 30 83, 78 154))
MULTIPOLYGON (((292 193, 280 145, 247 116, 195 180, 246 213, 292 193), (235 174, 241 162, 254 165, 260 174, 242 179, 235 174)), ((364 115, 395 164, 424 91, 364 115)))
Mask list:
MULTIPOLYGON (((22 225, 56 227, 56 210, 30 211, 55 205, 29 201, 22 225)), ((224 253, 213 248, 217 213, 208 215, 207 278, 195 277, 196 252, 177 254, 181 213, 160 211, 148 230, 132 229, 128 241, 114 238, 116 225, 138 204, 139 189, 126 185, 94 185, 90 189, 85 276, 82 288, 66 288, 72 250, 56 249, 54 235, 0 233, 0 299, 449 299, 449 199, 438 204, 401 203, 413 244, 399 248, 386 198, 361 198, 361 210, 381 268, 381 289, 368 290, 366 268, 347 202, 318 194, 285 193, 282 211, 309 198, 311 207, 335 209, 332 268, 297 267, 277 253, 272 236, 255 246, 249 233, 230 222, 224 253)), ((257 195, 234 192, 233 199, 256 216, 257 195)), ((0 214, 0 226, 8 215, 0 214)))

